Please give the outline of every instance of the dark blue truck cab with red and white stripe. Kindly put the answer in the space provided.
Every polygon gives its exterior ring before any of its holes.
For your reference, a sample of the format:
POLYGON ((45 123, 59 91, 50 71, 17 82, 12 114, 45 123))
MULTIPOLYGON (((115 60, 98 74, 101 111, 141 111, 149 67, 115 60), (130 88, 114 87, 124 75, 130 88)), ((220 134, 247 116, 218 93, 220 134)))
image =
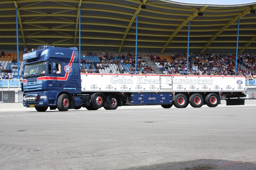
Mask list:
POLYGON ((81 105, 81 101, 75 101, 72 96, 81 94, 80 59, 76 47, 40 46, 23 54, 23 60, 23 106, 35 107, 37 111, 46 111, 48 106, 65 111, 81 105))

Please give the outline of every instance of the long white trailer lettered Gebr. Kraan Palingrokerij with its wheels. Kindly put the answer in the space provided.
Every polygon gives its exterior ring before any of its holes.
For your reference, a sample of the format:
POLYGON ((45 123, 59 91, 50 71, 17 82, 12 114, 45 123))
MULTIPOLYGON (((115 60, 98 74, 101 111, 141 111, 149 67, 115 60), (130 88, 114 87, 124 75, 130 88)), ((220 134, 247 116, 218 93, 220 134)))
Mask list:
POLYGON ((83 105, 88 110, 102 106, 114 110, 122 105, 216 107, 221 95, 226 96, 227 105, 244 105, 246 95, 243 76, 82 73, 81 90, 90 95, 90 103, 83 105))

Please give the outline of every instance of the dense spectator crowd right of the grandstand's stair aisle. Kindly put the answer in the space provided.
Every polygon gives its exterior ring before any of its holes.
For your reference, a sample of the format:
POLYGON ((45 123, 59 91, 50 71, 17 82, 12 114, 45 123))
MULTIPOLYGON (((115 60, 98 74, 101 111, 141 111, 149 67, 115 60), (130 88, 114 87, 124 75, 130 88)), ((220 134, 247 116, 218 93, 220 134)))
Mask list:
MULTIPOLYGON (((187 73, 187 57, 185 53, 172 55, 172 62, 170 63, 166 63, 166 59, 161 60, 158 56, 151 57, 151 60, 157 62, 160 70, 165 74, 187 73)), ((256 69, 255 61, 255 54, 239 55, 237 75, 253 77, 256 69)), ((193 53, 189 56, 188 65, 188 74, 190 75, 235 75, 236 54, 193 53)))

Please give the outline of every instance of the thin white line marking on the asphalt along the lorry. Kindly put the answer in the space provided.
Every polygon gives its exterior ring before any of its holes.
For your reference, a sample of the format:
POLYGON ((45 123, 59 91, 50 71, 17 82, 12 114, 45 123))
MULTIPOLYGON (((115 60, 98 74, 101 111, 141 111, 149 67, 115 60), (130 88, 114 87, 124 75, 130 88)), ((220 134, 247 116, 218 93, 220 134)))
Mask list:
MULTIPOLYGON (((162 109, 162 108, 161 108, 162 109)), ((183 111, 184 111, 185 108, 183 108, 183 111)), ((197 108, 194 108, 194 109, 186 109, 186 111, 190 111, 190 110, 196 110, 197 108)), ((251 108, 241 108, 243 110, 251 110, 251 108)), ((162 110, 165 110, 164 108, 162 110)), ((177 110, 181 110, 181 109, 177 109, 177 110)), ((200 110, 209 110, 209 109, 200 109, 200 110)), ((214 109, 214 110, 230 110, 230 108, 222 108, 222 109, 214 109)), ((155 112, 155 110, 147 110, 148 111, 153 111, 155 112)), ((170 110, 170 111, 176 111, 176 110, 170 110)), ((111 113, 118 113, 120 111, 111 111, 111 113)), ((122 111, 122 113, 134 113, 134 111, 122 111)), ((145 110, 143 111, 136 111, 136 112, 145 112, 145 110)), ((45 114, 17 114, 17 115, 0 115, 0 117, 5 117, 5 116, 40 116, 40 115, 58 115, 58 114, 86 114, 86 113, 97 113, 97 112, 83 112, 83 113, 45 113, 45 114)), ((98 112, 98 113, 110 113, 110 112, 107 112, 107 111, 103 111, 103 112, 98 112)))

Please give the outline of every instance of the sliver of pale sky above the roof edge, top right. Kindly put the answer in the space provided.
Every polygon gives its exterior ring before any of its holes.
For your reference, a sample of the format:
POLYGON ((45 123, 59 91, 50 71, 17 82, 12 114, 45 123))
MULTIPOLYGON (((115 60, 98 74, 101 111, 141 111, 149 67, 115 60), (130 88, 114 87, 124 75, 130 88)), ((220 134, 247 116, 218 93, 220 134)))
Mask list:
POLYGON ((175 1, 186 2, 186 3, 218 4, 218 5, 256 2, 256 0, 175 0, 175 1))

